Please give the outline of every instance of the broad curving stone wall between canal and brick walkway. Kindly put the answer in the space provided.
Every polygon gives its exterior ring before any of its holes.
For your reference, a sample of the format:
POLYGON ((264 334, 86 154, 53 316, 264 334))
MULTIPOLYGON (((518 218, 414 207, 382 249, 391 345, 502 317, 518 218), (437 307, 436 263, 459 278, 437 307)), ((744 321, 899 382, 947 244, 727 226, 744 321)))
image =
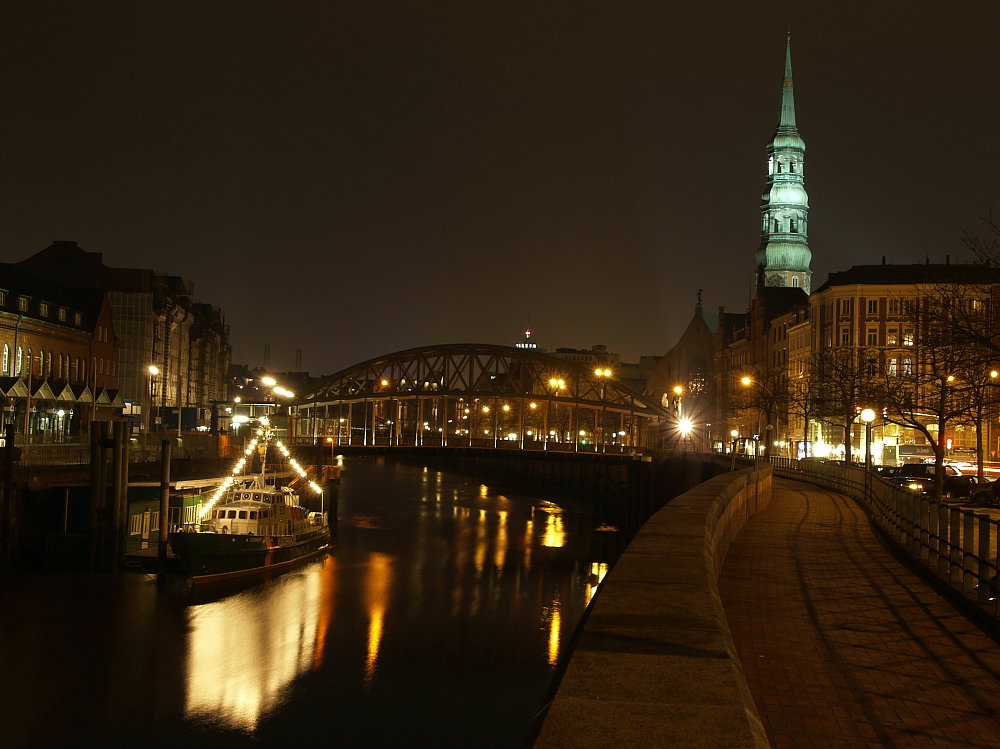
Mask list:
POLYGON ((771 467, 717 476, 651 517, 601 583, 535 749, 769 747, 719 598, 771 467))

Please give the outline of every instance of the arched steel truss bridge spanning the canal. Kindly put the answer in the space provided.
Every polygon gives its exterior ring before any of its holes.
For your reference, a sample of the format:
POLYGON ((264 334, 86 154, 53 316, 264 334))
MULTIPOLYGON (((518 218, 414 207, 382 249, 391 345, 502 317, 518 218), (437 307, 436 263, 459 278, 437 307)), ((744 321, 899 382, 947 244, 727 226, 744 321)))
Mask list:
POLYGON ((300 395, 289 436, 332 446, 629 452, 659 447, 668 413, 614 379, 530 349, 399 351, 300 395))

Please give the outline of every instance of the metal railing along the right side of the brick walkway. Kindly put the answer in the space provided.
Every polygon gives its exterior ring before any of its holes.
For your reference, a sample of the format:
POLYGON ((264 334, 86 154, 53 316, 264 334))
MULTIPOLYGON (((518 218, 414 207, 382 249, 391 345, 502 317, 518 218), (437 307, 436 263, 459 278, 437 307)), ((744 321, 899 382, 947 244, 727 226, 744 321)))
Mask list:
POLYGON ((1000 521, 987 513, 901 489, 864 468, 773 458, 779 476, 833 489, 862 503, 890 542, 986 612, 997 599, 1000 521))

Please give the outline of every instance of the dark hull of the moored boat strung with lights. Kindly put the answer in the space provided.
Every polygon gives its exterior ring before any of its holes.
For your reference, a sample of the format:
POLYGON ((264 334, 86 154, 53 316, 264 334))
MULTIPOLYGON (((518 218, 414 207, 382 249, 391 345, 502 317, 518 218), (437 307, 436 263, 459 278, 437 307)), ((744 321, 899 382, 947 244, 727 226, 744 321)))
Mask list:
POLYGON ((283 571, 330 549, 330 529, 295 536, 172 533, 170 546, 195 584, 283 571))

